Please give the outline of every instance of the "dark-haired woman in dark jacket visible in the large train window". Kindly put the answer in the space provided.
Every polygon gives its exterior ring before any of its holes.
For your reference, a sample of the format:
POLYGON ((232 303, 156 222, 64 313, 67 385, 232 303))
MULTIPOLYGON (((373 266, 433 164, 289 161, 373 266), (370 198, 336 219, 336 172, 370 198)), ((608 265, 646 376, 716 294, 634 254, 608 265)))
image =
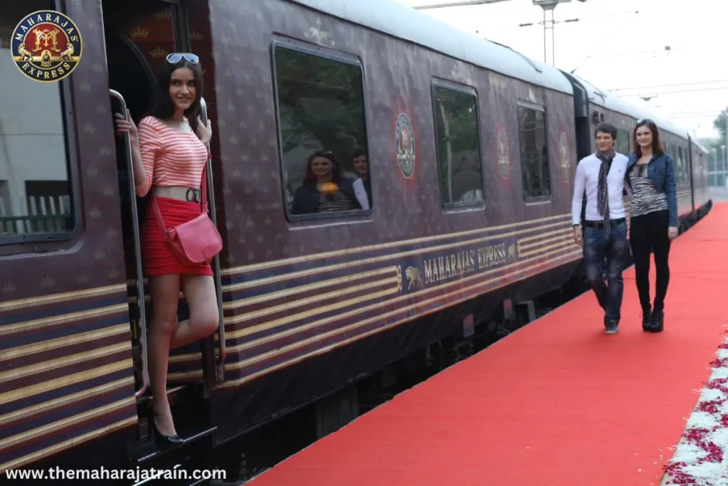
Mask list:
POLYGON ((290 213, 327 213, 361 208, 354 181, 341 176, 341 164, 334 154, 328 150, 311 154, 306 163, 304 183, 293 195, 290 213))

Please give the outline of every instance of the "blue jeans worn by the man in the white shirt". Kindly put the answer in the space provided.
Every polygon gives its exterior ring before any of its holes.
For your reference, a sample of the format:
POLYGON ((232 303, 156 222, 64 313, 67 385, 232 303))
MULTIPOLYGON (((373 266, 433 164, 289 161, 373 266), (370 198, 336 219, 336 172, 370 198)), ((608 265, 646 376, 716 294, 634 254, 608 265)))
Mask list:
POLYGON ((625 282, 622 270, 629 254, 627 222, 611 222, 607 234, 602 227, 584 227, 584 262, 587 280, 604 309, 604 324, 619 323, 625 282), (606 266, 606 283, 604 270, 606 266))

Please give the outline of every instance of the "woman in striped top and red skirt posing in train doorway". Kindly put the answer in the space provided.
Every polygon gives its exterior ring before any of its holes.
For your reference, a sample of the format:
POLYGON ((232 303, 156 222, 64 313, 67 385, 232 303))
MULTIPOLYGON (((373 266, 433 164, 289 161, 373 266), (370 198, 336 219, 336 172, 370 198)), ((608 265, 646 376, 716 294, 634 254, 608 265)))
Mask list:
MULTIPOLYGON (((193 54, 167 56, 158 79, 154 107, 137 129, 116 114, 119 135, 132 144, 134 181, 140 197, 153 193, 165 227, 199 216, 200 184, 213 130, 199 119, 202 69, 193 54), (197 133, 196 133, 197 132, 197 133)), ((210 264, 184 264, 162 239, 153 204, 141 228, 144 273, 151 283, 153 316, 149 330, 149 377, 154 431, 160 445, 178 444, 167 401, 167 362, 171 348, 203 339, 218 327, 218 305, 210 264), (189 305, 189 321, 177 322, 180 289, 189 305)))

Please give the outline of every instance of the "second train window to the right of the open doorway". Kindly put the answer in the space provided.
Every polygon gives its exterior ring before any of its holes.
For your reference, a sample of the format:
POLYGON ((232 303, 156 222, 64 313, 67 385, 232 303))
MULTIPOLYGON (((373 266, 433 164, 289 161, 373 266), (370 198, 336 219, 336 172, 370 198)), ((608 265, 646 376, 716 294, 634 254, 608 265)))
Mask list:
POLYGON ((478 98, 473 90, 432 85, 443 205, 483 202, 478 98))

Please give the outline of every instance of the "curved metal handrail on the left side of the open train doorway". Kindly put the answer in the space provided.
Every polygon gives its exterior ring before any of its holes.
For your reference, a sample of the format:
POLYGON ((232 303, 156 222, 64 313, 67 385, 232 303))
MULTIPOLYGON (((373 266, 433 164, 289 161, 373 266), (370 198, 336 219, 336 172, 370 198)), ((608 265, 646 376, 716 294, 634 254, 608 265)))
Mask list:
MULTIPOLYGON (((122 103, 122 114, 124 119, 129 121, 127 116, 127 103, 124 97, 115 90, 108 90, 112 97, 122 103)), ((134 393, 138 398, 144 394, 146 388, 149 387, 149 350, 146 340, 146 310, 144 308, 144 275, 141 265, 141 243, 139 240, 139 217, 137 215, 136 205, 136 186, 134 183, 134 161, 132 160, 132 142, 129 133, 124 133, 124 152, 127 155, 127 171, 129 171, 129 191, 130 201, 132 203, 132 228, 134 230, 134 259, 137 270, 137 305, 139 306, 139 323, 141 324, 141 388, 134 393)))

